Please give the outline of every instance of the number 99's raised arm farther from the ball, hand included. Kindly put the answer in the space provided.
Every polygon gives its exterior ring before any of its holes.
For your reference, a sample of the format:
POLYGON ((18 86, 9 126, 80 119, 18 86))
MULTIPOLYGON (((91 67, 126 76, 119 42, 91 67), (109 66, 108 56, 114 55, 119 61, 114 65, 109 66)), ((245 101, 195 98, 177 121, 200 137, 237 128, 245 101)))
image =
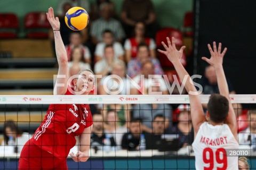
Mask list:
POLYGON ((225 96, 229 101, 229 111, 225 123, 228 124, 229 128, 231 129, 231 132, 237 139, 236 115, 233 106, 230 102, 228 83, 222 67, 223 57, 227 51, 227 48, 224 48, 224 50, 221 52, 221 43, 219 43, 219 47, 217 50, 215 42, 213 42, 213 50, 210 44, 208 44, 208 48, 211 53, 211 58, 207 59, 206 57, 203 57, 202 59, 205 60, 207 63, 211 64, 215 68, 220 94, 225 96))

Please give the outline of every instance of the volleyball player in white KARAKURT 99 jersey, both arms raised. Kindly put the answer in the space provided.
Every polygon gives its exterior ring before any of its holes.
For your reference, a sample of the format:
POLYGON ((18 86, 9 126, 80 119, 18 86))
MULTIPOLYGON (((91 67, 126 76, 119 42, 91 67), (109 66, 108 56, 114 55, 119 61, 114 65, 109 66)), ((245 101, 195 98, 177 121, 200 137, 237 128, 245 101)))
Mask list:
MULTIPOLYGON (((183 80, 188 75, 180 62, 185 46, 178 51, 175 47, 175 39, 172 37, 172 43, 168 37, 166 39, 168 46, 162 42, 166 51, 158 51, 169 58, 180 79, 183 80)), ((227 48, 221 52, 221 43, 217 49, 215 42, 213 42, 213 50, 210 44, 208 48, 211 58, 203 57, 202 59, 215 68, 220 94, 211 95, 206 117, 199 97, 197 93, 195 94, 196 88, 190 83, 192 81, 189 75, 185 84, 189 93, 191 119, 195 133, 192 146, 195 152, 196 169, 235 170, 238 169, 238 157, 228 157, 226 151, 226 149, 238 149, 236 116, 229 99, 227 80, 222 67, 227 48)))

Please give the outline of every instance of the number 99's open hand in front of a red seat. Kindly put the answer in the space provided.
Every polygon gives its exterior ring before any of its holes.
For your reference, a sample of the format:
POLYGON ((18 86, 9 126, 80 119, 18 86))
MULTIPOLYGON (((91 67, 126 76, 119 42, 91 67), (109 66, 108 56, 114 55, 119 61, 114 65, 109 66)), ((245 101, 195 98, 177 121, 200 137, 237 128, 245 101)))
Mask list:
POLYGON ((157 50, 158 52, 162 53, 162 54, 165 54, 167 56, 167 58, 173 63, 173 62, 177 62, 177 61, 180 61, 180 58, 182 56, 182 53, 183 53, 183 50, 186 48, 186 46, 182 46, 180 48, 180 50, 178 51, 176 46, 175 46, 175 38, 172 37, 172 43, 169 39, 169 37, 166 37, 167 39, 167 44, 168 46, 162 42, 164 48, 166 51, 163 51, 163 50, 157 50))

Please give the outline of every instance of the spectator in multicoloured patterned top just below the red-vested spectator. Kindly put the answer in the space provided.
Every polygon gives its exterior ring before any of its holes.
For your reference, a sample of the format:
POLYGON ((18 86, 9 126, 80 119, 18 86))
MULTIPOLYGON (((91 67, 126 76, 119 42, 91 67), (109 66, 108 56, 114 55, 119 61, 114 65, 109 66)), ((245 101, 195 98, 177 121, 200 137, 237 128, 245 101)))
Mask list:
POLYGON ((146 60, 150 60, 153 63, 154 67, 154 74, 155 75, 163 75, 164 71, 159 63, 159 61, 156 58, 151 58, 149 56, 149 48, 147 44, 141 43, 138 45, 138 53, 137 57, 135 59, 132 59, 128 63, 127 67, 127 74, 133 78, 140 74, 141 72, 141 65, 146 60))

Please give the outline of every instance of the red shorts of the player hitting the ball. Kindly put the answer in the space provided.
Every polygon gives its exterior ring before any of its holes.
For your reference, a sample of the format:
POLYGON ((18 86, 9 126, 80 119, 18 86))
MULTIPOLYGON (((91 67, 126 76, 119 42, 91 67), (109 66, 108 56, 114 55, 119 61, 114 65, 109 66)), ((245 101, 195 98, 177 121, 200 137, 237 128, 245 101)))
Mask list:
POLYGON ((20 153, 19 169, 68 169, 67 158, 54 157, 29 140, 20 153))

